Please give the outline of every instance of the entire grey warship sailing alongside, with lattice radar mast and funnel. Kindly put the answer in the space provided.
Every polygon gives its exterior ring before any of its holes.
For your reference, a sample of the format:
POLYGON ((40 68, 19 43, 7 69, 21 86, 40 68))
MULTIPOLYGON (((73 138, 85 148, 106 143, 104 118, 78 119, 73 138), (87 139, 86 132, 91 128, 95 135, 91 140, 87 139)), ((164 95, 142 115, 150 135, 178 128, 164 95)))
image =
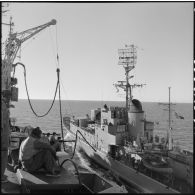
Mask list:
MULTIPOLYGON (((136 46, 126 46, 119 49, 119 65, 125 69, 125 81, 118 81, 116 88, 122 88, 126 93, 125 107, 109 107, 91 110, 91 117, 65 116, 63 118, 66 129, 79 139, 78 145, 90 158, 114 175, 134 186, 138 192, 146 193, 176 193, 174 186, 167 178, 187 175, 186 181, 192 183, 192 164, 188 157, 192 154, 177 153, 170 150, 170 138, 167 143, 156 143, 153 139, 154 122, 145 119, 142 104, 133 99, 132 88, 142 87, 143 84, 130 84, 130 71, 136 63, 136 46), (88 142, 88 143, 87 143, 88 142), (157 164, 152 164, 147 155, 163 156, 162 162, 158 158, 157 164), (181 158, 183 160, 181 160, 181 158), (134 161, 140 170, 134 169, 134 161), (163 164, 163 161, 166 161, 163 164), (147 163, 146 163, 147 162, 147 163), (186 171, 188 168, 190 171, 186 171), (146 174, 147 170, 158 172, 162 177, 157 180, 146 174), (160 181, 160 182, 159 182, 160 181), (166 181, 168 181, 166 183, 166 181), (168 185, 168 187, 167 187, 168 185)), ((154 161, 154 158, 153 158, 154 161)), ((173 180, 172 180, 173 181, 173 180)))

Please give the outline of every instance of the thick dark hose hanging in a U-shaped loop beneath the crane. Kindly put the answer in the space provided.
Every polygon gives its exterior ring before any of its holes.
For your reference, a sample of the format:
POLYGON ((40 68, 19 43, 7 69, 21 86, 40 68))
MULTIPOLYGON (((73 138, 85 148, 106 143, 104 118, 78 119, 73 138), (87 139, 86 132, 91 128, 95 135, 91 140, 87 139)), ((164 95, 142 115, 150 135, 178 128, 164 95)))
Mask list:
MULTIPOLYGON (((58 86, 59 86, 59 78, 58 78, 58 80, 57 80, 55 95, 54 95, 54 98, 53 98, 53 101, 52 101, 52 104, 51 104, 49 110, 48 110, 45 114, 43 114, 43 115, 38 115, 38 114, 34 111, 34 109, 33 109, 33 107, 32 107, 32 104, 31 104, 31 101, 30 101, 30 97, 29 97, 29 93, 28 93, 28 87, 27 87, 27 82, 26 82, 26 68, 25 68, 25 65, 24 65, 23 63, 17 62, 16 64, 13 64, 13 67, 14 67, 13 77, 14 77, 14 75, 15 75, 15 68, 16 68, 17 65, 21 65, 21 66, 24 68, 24 82, 25 82, 25 88, 26 88, 26 93, 27 93, 27 97, 28 97, 28 102, 29 102, 29 105, 30 105, 30 108, 31 108, 32 112, 33 112, 37 117, 44 117, 44 116, 46 116, 46 115, 51 111, 51 109, 52 109, 52 107, 53 107, 53 105, 54 105, 54 101, 55 101, 56 94, 57 94, 57 89, 58 89, 58 86)), ((58 71, 58 70, 57 70, 57 71, 58 71)))

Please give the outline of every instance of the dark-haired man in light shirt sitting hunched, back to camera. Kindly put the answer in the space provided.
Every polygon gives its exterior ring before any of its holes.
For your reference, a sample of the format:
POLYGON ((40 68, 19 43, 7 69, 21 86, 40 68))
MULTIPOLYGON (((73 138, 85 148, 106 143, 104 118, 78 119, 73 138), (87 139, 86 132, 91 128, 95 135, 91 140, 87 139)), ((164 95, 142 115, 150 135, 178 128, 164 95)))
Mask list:
POLYGON ((34 128, 29 136, 21 143, 19 160, 22 167, 28 172, 35 172, 44 168, 49 174, 57 175, 60 172, 56 160, 56 151, 50 144, 40 140, 42 131, 34 128))

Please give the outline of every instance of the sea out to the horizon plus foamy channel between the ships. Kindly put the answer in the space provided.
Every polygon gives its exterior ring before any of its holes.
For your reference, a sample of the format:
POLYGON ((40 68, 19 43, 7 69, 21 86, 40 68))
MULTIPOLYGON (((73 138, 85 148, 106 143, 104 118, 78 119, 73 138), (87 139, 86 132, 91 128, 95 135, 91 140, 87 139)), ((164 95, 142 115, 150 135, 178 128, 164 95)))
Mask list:
MULTIPOLYGON (((37 115, 44 115, 51 107, 52 100, 31 100, 31 106, 37 115)), ((125 102, 119 101, 78 101, 78 100, 63 100, 61 101, 62 116, 90 116, 92 109, 101 108, 104 105, 125 107, 125 102)), ((15 108, 10 109, 11 117, 15 118, 17 126, 32 126, 40 127, 44 133, 57 132, 61 134, 60 120, 60 103, 55 101, 48 115, 45 117, 37 117, 31 110, 28 100, 19 100, 14 102, 15 108)), ((165 106, 155 102, 143 102, 142 109, 145 111, 145 118, 148 121, 154 122, 154 136, 166 137, 168 128, 168 111, 165 106)), ((190 103, 178 103, 172 106, 172 136, 174 144, 181 149, 193 152, 193 105, 190 103), (174 112, 183 116, 184 119, 177 119, 174 112)), ((66 138, 71 138, 63 127, 66 138)), ((69 153, 73 153, 74 144, 69 145, 69 153)), ((66 146, 67 147, 67 146, 66 146)), ((109 181, 112 185, 121 186, 126 192, 134 193, 134 189, 118 177, 105 170, 89 159, 82 151, 76 151, 73 160, 78 165, 79 171, 95 172, 99 176, 109 181)), ((71 166, 72 167, 72 166, 71 166)), ((70 167, 70 169, 71 169, 70 167)))

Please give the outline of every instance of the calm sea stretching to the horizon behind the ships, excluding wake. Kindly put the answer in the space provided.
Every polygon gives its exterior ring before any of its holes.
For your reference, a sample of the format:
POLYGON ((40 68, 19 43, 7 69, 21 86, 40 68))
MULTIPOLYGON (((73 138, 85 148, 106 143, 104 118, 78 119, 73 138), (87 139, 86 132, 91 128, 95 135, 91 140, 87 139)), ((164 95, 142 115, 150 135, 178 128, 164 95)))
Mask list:
MULTIPOLYGON (((52 100, 31 100, 32 106, 38 115, 43 115, 48 111, 52 100)), ((85 116, 91 109, 108 106, 125 106, 125 102, 115 101, 62 101, 62 114, 85 116)), ((11 109, 11 117, 16 117, 16 125, 33 127, 39 126, 43 132, 53 131, 61 132, 59 101, 55 101, 50 113, 43 117, 36 117, 30 109, 28 100, 19 100, 14 103, 15 108, 11 109)), ((166 136, 168 127, 168 111, 164 111, 164 106, 158 103, 142 103, 143 110, 147 120, 155 122, 154 134, 166 136)), ((174 144, 178 144, 182 149, 193 151, 193 105, 191 103, 178 103, 172 107, 178 114, 184 117, 176 119, 174 112, 172 114, 172 134, 174 144)))

